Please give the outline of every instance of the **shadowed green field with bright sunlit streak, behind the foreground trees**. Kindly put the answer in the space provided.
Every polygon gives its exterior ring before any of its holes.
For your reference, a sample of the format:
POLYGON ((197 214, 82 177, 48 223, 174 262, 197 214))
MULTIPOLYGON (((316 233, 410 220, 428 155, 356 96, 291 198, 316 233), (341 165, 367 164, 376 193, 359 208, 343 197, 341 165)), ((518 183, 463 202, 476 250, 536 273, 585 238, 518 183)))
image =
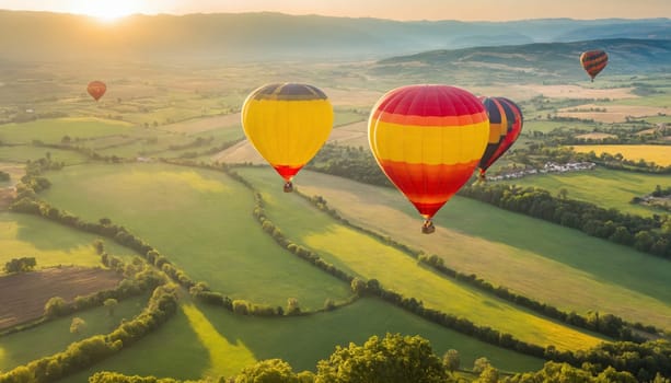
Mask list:
POLYGON ((439 356, 458 349, 464 368, 483 356, 506 371, 537 370, 543 364, 540 359, 481 343, 370 298, 328 313, 285 318, 236 316, 190 302, 181 309, 158 332, 63 382, 82 382, 105 370, 176 379, 231 376, 271 358, 288 361, 297 372, 315 371, 317 361, 328 358, 336 345, 361 345, 370 336, 387 332, 427 338, 439 356))

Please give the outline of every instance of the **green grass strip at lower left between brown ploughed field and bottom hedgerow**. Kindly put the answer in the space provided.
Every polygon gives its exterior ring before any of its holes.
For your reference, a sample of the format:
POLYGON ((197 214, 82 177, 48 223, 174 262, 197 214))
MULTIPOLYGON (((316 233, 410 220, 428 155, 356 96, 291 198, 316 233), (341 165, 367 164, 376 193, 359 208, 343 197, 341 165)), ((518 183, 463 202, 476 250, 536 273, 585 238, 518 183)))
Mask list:
POLYGON ((122 318, 130 320, 147 302, 147 297, 136 297, 119 301, 109 316, 106 307, 95 307, 49 321, 37 327, 1 337, 0 371, 9 371, 32 360, 65 351, 68 346, 97 334, 107 334, 116 328, 122 318), (81 317, 86 323, 82 334, 71 334, 70 323, 73 317, 81 317))

